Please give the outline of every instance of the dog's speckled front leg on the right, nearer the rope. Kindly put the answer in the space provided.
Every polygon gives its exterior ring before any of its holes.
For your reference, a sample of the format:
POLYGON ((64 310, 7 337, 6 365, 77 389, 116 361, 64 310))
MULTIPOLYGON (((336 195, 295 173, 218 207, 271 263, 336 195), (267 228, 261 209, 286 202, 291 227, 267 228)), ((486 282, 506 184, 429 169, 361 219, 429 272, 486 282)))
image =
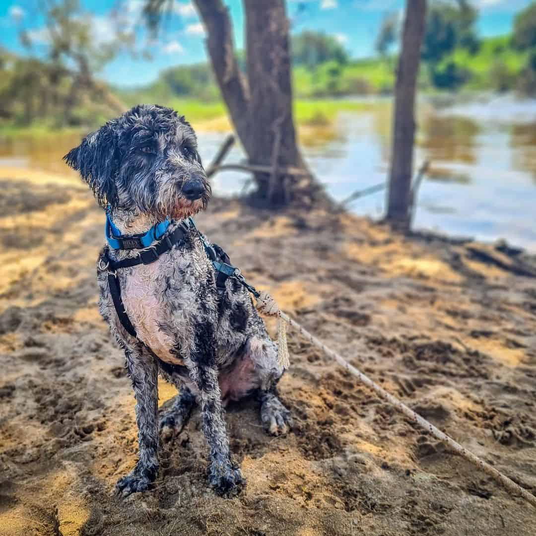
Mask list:
POLYGON ((218 369, 212 364, 194 362, 192 379, 201 398, 203 431, 210 448, 209 481, 219 495, 235 495, 244 486, 240 468, 233 463, 221 405, 218 369))

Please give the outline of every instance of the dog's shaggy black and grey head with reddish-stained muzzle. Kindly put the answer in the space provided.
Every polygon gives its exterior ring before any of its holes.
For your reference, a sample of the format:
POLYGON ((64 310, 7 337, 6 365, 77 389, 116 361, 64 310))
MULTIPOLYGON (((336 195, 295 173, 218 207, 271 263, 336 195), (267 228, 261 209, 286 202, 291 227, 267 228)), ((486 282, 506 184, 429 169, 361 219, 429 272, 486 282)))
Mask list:
POLYGON ((195 132, 170 108, 136 106, 87 135, 64 159, 112 211, 183 219, 210 199, 195 132))

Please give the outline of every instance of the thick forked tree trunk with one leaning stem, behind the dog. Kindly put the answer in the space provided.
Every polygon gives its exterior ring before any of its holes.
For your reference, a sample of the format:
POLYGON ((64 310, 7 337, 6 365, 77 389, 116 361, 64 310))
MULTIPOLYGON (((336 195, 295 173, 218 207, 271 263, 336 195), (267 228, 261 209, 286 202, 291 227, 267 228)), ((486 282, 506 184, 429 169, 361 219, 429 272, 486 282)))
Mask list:
MULTIPOLYGON (((237 136, 256 169, 252 199, 265 206, 311 206, 325 194, 297 146, 292 113, 289 20, 284 0, 243 0, 245 72, 236 58, 233 25, 222 0, 193 0, 207 33, 215 78, 237 136)), ((166 0, 147 0, 155 27, 166 0)))

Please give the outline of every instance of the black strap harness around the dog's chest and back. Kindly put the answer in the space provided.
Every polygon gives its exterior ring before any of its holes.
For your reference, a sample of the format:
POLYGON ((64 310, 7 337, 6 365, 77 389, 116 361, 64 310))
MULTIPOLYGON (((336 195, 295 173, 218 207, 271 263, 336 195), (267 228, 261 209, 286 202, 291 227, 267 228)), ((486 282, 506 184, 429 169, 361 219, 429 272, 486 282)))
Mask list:
MULTIPOLYGON (((257 295, 257 291, 247 284, 244 277, 240 273, 240 270, 230 264, 229 256, 226 252, 217 244, 210 244, 206 241, 205 237, 199 233, 196 224, 193 219, 181 222, 180 225, 170 234, 163 236, 160 241, 152 245, 149 248, 141 250, 136 257, 130 257, 124 260, 113 260, 110 258, 110 248, 106 246, 99 259, 98 269, 101 272, 107 272, 108 274, 108 286, 110 288, 111 299, 114 302, 114 308, 117 313, 119 321, 123 325, 124 329, 131 334, 132 337, 137 337, 136 329, 130 322, 129 316, 125 312, 125 306, 121 298, 121 286, 117 277, 117 270, 123 268, 130 268, 131 266, 137 266, 138 264, 151 264, 155 260, 158 260, 160 255, 170 251, 175 245, 178 247, 182 245, 186 237, 191 231, 198 233, 200 239, 203 241, 205 252, 212 261, 214 270, 216 271, 216 290, 218 293, 218 300, 220 306, 223 296, 225 294, 225 282, 229 277, 234 277, 241 282, 250 292, 257 295)), ((132 249, 130 247, 122 247, 120 249, 132 249)))

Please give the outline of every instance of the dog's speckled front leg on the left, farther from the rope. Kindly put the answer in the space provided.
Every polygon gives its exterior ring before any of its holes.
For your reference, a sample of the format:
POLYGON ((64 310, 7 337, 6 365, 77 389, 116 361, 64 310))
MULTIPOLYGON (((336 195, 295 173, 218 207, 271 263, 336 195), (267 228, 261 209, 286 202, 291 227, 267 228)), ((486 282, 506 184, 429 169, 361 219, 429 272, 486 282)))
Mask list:
POLYGON ((136 396, 139 456, 135 468, 117 482, 123 497, 149 489, 158 472, 158 364, 142 345, 126 349, 125 355, 136 396))

